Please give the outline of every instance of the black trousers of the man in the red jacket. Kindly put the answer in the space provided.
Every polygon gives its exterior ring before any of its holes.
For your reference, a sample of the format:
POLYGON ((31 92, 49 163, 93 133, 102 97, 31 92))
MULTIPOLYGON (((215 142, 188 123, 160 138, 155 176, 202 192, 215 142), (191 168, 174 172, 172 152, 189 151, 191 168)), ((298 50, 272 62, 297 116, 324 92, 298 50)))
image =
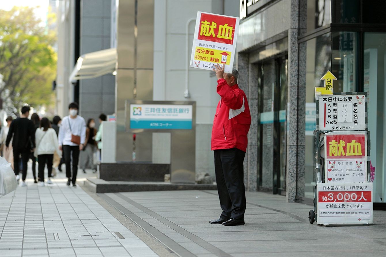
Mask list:
POLYGON ((244 219, 245 187, 244 166, 245 152, 237 148, 214 150, 215 172, 218 197, 223 210, 220 218, 244 219))

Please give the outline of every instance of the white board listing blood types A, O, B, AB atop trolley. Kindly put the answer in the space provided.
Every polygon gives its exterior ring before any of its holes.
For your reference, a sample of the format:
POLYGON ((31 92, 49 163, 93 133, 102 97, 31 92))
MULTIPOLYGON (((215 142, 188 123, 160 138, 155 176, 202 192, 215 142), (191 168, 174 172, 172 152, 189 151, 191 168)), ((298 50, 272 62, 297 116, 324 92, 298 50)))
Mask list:
POLYGON ((319 130, 365 130, 364 95, 322 95, 319 100, 319 130))

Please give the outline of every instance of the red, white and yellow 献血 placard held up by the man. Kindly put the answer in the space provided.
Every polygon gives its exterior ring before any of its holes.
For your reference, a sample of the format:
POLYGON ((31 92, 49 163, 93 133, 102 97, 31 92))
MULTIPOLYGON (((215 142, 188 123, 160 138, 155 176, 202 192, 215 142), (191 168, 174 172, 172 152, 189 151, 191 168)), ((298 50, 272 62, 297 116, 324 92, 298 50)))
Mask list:
POLYGON ((237 17, 197 12, 189 66, 211 71, 215 64, 224 64, 224 72, 232 73, 239 20, 237 17))

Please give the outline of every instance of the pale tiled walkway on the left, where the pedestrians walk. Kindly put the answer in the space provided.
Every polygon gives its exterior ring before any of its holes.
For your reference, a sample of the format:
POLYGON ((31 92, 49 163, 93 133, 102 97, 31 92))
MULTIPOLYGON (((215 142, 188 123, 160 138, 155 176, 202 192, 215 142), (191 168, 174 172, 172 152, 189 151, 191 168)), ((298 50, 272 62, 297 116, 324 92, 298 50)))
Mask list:
POLYGON ((1 257, 158 256, 82 188, 66 186, 63 173, 52 181, 39 187, 27 179, 0 197, 1 257))

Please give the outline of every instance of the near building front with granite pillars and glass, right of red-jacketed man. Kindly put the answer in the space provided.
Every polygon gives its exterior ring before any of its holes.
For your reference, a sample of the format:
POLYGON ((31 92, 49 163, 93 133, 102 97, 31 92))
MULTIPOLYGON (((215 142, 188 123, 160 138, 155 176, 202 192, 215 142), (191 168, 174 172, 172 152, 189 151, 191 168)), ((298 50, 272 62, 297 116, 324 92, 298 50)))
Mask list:
POLYGON ((384 13, 384 1, 240 0, 238 67, 252 111, 249 190, 312 201, 314 91, 330 70, 334 92, 368 93, 374 202, 385 202, 384 13))

